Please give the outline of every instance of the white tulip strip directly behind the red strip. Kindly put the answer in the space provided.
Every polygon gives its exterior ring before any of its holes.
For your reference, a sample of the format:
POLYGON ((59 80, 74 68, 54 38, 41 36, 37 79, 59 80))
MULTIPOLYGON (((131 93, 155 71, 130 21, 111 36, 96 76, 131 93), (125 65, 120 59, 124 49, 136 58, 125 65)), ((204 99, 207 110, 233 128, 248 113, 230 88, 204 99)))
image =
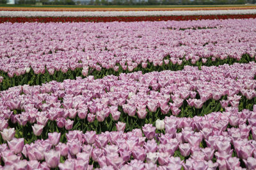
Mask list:
POLYGON ((0 17, 120 17, 120 16, 170 16, 170 15, 243 15, 256 14, 248 10, 184 10, 184 11, 0 11, 0 17))

